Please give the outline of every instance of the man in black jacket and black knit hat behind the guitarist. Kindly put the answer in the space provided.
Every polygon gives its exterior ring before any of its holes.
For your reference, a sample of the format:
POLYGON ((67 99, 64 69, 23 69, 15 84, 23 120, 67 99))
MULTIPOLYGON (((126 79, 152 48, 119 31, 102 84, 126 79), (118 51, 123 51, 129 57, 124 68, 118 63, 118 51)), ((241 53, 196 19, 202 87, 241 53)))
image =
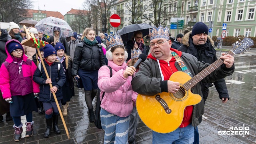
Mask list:
MULTIPOLYGON (((192 32, 188 32, 183 38, 183 45, 178 48, 179 51, 186 52, 195 56, 198 61, 212 64, 217 60, 216 50, 214 49, 213 40, 208 36, 208 26, 202 22, 197 22, 192 29, 192 32)), ((201 89, 203 93, 204 103, 209 94, 209 87, 211 83, 201 82, 201 89)), ((224 79, 220 79, 214 82, 214 86, 219 93, 220 99, 223 103, 229 100, 228 89, 224 79)), ((195 142, 199 144, 199 134, 196 127, 195 130, 195 142)))

